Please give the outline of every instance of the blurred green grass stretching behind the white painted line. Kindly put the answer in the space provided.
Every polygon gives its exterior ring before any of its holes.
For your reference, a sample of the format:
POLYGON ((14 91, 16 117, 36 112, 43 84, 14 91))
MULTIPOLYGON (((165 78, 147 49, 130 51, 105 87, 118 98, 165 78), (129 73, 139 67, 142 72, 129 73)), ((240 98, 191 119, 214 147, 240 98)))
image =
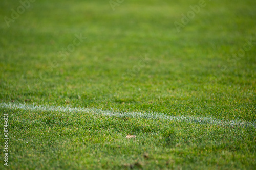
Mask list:
POLYGON ((113 11, 109 1, 38 0, 9 28, 3 18, 20 3, 2 1, 0 100, 255 121, 256 3, 205 3, 178 33, 174 22, 198 1, 124 1, 113 11), (62 61, 80 33, 87 39, 62 61))

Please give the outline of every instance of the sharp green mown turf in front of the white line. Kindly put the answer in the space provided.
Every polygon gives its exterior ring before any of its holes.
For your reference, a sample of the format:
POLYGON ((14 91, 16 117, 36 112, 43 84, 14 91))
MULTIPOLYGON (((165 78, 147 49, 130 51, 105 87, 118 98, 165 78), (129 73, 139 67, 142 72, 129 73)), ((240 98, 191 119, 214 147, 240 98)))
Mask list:
POLYGON ((81 112, 1 109, 9 114, 10 167, 61 169, 250 169, 255 127, 81 112), (135 139, 126 139, 133 134, 135 139))

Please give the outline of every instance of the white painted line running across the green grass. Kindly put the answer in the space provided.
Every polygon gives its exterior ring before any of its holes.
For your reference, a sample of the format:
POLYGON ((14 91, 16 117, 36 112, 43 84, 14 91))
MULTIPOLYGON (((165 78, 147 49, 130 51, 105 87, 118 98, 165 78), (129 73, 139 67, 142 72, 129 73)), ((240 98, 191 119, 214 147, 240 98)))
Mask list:
POLYGON ((15 103, 0 103, 0 108, 9 109, 23 109, 33 111, 60 111, 69 113, 89 113, 105 116, 116 117, 133 117, 133 118, 147 118, 147 119, 164 119, 176 122, 190 122, 195 124, 211 124, 211 125, 223 125, 223 126, 241 126, 241 127, 253 127, 256 128, 255 122, 246 122, 239 120, 221 120, 212 117, 200 117, 200 116, 169 116, 163 113, 143 113, 143 112, 113 112, 109 110, 95 109, 95 108, 81 108, 81 107, 63 107, 63 106, 35 106, 27 104, 15 104, 15 103))

